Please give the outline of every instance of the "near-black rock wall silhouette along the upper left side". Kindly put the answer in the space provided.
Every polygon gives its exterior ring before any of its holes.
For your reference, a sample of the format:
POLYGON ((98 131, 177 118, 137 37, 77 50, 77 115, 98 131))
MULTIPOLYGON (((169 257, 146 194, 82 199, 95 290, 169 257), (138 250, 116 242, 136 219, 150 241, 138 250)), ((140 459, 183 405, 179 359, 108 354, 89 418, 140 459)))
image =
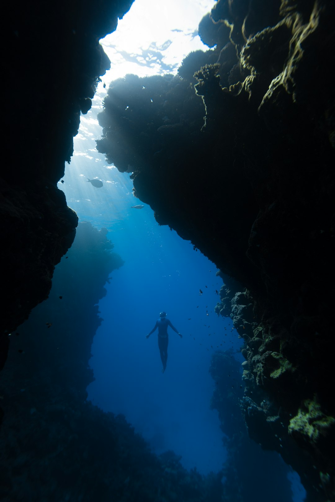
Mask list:
POLYGON ((56 183, 70 162, 80 111, 87 113, 97 79, 110 66, 98 40, 131 4, 104 0, 93 9, 87 0, 34 0, 6 7, 0 368, 8 333, 47 298, 54 266, 73 241, 77 217, 56 183))

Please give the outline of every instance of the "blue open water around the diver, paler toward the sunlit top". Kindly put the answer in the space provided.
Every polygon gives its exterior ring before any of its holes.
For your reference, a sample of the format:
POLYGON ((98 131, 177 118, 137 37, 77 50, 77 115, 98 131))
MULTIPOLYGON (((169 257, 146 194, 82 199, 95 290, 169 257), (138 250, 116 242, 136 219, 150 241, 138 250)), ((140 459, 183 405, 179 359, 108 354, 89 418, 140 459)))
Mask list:
MULTIPOLYGON (((214 313, 222 280, 190 242, 157 224, 150 206, 131 208, 141 201, 132 194, 130 175, 108 166, 95 151, 98 106, 82 117, 75 155, 58 185, 80 221, 107 228, 125 261, 99 302, 103 322, 91 349, 95 381, 88 399, 104 411, 124 414, 154 452, 171 449, 188 469, 218 471, 227 455, 217 411, 210 409, 215 385, 210 358, 215 350, 232 349, 244 360, 231 319, 214 313), (103 181, 102 188, 86 181, 94 177, 103 181), (183 335, 180 339, 169 328, 164 374, 157 332, 145 338, 162 310, 183 335)), ((300 502, 304 490, 294 474, 291 483, 293 500, 300 502)))

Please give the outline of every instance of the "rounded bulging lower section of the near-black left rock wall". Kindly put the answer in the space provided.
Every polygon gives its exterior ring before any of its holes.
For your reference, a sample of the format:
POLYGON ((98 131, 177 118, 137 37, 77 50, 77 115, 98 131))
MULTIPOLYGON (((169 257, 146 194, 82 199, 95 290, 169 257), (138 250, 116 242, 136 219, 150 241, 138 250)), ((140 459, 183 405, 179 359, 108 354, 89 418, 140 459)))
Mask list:
POLYGON ((48 297, 54 266, 75 236, 77 215, 65 195, 47 178, 33 184, 1 181, 3 311, 0 332, 0 369, 16 329, 36 304, 48 297))

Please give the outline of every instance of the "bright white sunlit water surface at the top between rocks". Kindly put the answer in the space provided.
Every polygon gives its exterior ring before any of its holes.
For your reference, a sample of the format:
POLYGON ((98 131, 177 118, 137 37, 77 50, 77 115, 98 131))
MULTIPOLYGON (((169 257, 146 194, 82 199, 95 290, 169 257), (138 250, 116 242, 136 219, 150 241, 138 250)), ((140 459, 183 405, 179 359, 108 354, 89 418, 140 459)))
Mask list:
POLYGON ((208 50, 197 30, 214 5, 214 0, 135 0, 117 30, 100 41, 111 62, 103 82, 108 86, 127 73, 176 74, 187 54, 208 50))

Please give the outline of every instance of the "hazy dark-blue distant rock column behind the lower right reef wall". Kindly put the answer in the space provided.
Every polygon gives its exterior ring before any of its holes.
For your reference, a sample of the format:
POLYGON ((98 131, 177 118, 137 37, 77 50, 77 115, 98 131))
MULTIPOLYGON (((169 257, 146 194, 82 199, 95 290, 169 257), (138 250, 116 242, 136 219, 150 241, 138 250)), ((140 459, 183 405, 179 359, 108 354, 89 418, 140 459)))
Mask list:
MULTIPOLYGON (((241 364, 234 353, 216 351, 209 372, 215 381, 211 407, 218 411, 228 454, 222 472, 225 502, 290 502, 289 468, 277 453, 262 451, 248 436, 241 413, 241 364)), ((271 449, 271 445, 266 449, 271 449)))

